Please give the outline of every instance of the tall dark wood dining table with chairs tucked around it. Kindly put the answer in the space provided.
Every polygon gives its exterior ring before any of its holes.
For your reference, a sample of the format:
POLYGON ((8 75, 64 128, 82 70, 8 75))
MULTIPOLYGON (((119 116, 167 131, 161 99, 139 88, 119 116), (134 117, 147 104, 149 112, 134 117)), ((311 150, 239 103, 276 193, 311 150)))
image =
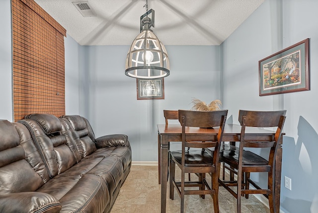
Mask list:
MULTIPOLYGON (((167 175, 168 175, 168 147, 169 142, 181 141, 181 125, 180 124, 158 124, 158 170, 159 170, 159 184, 161 183, 161 213, 165 213, 166 209, 166 193, 167 193, 167 175)), ((240 138, 239 124, 226 124, 223 134, 223 141, 235 142, 240 138)), ((191 136, 200 136, 200 138, 208 138, 216 136, 217 128, 197 128, 186 127, 186 133, 191 136)), ((257 140, 272 140, 275 131, 262 128, 246 128, 245 137, 248 136, 254 141, 257 140)), ((280 206, 280 182, 281 182, 281 166, 282 166, 282 143, 283 137, 278 141, 277 154, 275 161, 275 205, 279 210, 280 206)))

